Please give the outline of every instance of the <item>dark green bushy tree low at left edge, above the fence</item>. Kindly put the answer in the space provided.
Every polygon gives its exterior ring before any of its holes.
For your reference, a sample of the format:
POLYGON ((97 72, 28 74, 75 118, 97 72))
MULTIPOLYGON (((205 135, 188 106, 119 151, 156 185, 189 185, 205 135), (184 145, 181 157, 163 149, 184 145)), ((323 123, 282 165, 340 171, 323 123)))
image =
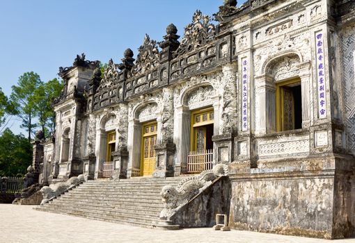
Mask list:
POLYGON ((31 163, 32 145, 29 140, 6 128, 0 136, 0 177, 24 175, 31 163))

